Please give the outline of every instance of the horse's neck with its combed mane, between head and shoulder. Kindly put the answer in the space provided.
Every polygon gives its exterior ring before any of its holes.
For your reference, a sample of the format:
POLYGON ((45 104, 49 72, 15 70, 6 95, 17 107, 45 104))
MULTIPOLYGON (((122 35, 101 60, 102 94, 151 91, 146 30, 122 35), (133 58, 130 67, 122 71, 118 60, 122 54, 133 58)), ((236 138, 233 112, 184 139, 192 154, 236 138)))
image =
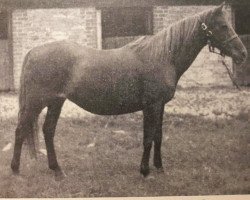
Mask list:
POLYGON ((136 52, 149 68, 174 67, 178 80, 205 46, 205 40, 200 23, 193 17, 176 23, 155 36, 143 37, 127 46, 136 52))

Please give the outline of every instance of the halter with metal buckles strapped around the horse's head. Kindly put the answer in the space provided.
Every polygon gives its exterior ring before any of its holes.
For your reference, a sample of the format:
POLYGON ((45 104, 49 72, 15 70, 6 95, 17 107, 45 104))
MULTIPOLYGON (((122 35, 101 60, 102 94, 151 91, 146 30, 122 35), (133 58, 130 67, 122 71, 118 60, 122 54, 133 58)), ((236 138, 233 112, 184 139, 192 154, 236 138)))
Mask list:
MULTIPOLYGON (((211 42, 211 39, 212 39, 212 36, 213 36, 213 32, 212 32, 211 30, 208 29, 208 26, 207 26, 204 22, 201 23, 201 29, 205 32, 209 51, 212 52, 212 53, 219 54, 219 55, 221 55, 221 56, 224 57, 225 54, 223 53, 223 50, 220 50, 220 53, 217 53, 217 52, 215 51, 215 47, 212 45, 212 42, 211 42)), ((224 40, 224 41, 222 42, 221 46, 222 46, 223 48, 225 48, 225 46, 226 46, 229 42, 231 42, 232 40, 234 40, 235 38, 238 38, 238 35, 237 35, 237 34, 234 34, 234 35, 232 35, 230 38, 224 40)))

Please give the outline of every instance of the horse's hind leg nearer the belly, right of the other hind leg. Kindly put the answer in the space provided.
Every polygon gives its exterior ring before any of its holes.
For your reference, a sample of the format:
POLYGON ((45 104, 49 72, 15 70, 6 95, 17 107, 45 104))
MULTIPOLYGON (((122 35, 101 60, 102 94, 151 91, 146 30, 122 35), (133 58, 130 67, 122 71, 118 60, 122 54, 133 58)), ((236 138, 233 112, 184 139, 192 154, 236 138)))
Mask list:
POLYGON ((64 101, 64 99, 57 99, 48 105, 47 115, 43 124, 43 133, 47 149, 49 168, 54 170, 55 177, 58 180, 63 178, 63 173, 56 158, 54 135, 64 101))

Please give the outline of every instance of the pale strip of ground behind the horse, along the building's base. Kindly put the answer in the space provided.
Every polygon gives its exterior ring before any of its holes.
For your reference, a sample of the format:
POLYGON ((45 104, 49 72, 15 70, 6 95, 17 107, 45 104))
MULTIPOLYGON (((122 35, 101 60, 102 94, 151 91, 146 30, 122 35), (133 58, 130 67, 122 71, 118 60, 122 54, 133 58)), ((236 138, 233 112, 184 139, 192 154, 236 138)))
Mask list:
MULTIPOLYGON (((0 95, 0 119, 16 117, 18 100, 15 94, 0 95)), ((250 110, 250 89, 238 91, 233 88, 188 88, 177 89, 175 97, 166 104, 170 114, 190 114, 209 119, 232 118, 250 110)), ((45 113, 45 110, 43 111, 45 113)), ((66 101, 61 117, 82 118, 93 116, 70 101, 66 101)))

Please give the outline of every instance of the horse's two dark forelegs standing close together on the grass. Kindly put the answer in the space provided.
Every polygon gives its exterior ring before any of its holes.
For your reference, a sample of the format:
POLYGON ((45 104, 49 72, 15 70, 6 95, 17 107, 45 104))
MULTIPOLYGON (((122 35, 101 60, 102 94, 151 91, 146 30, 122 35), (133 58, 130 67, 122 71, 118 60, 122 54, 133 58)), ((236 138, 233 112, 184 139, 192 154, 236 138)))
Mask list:
POLYGON ((140 169, 143 176, 147 176, 149 174, 149 158, 153 141, 155 142, 154 164, 157 164, 157 167, 159 166, 159 168, 162 167, 160 156, 162 132, 159 126, 162 125, 163 109, 164 104, 159 101, 153 105, 147 106, 143 110, 144 151, 140 169))

